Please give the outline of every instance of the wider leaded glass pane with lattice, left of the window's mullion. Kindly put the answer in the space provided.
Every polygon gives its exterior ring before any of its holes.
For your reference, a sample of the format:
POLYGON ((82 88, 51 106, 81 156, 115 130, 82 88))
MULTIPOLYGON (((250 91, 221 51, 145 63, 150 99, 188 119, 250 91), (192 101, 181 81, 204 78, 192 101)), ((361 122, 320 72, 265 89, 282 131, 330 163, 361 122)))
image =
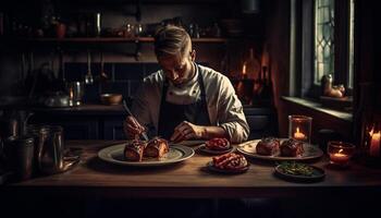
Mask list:
POLYGON ((315 73, 314 83, 321 76, 334 74, 334 0, 315 1, 315 73))

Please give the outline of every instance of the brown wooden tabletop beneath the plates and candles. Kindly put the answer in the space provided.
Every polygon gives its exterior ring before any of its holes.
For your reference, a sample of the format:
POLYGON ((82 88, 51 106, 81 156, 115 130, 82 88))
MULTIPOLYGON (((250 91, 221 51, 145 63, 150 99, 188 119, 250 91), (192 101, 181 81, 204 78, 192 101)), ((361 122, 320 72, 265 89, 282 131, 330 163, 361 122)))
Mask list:
POLYGON ((3 185, 4 194, 105 196, 105 197, 288 197, 369 195, 381 193, 381 170, 353 162, 345 170, 327 168, 323 157, 312 165, 325 170, 317 183, 293 183, 273 174, 273 162, 249 159, 243 174, 210 173, 204 169, 211 156, 195 154, 183 162, 156 168, 115 166, 100 160, 97 152, 118 142, 75 141, 83 148, 81 164, 64 173, 3 185))

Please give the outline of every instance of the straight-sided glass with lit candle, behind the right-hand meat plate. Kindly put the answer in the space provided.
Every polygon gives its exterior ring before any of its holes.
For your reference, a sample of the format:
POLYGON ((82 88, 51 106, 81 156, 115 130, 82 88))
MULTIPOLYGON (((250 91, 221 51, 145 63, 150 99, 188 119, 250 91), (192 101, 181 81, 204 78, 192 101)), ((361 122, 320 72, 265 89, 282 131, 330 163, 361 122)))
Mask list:
POLYGON ((288 137, 305 143, 311 142, 312 118, 307 116, 288 116, 288 137))

